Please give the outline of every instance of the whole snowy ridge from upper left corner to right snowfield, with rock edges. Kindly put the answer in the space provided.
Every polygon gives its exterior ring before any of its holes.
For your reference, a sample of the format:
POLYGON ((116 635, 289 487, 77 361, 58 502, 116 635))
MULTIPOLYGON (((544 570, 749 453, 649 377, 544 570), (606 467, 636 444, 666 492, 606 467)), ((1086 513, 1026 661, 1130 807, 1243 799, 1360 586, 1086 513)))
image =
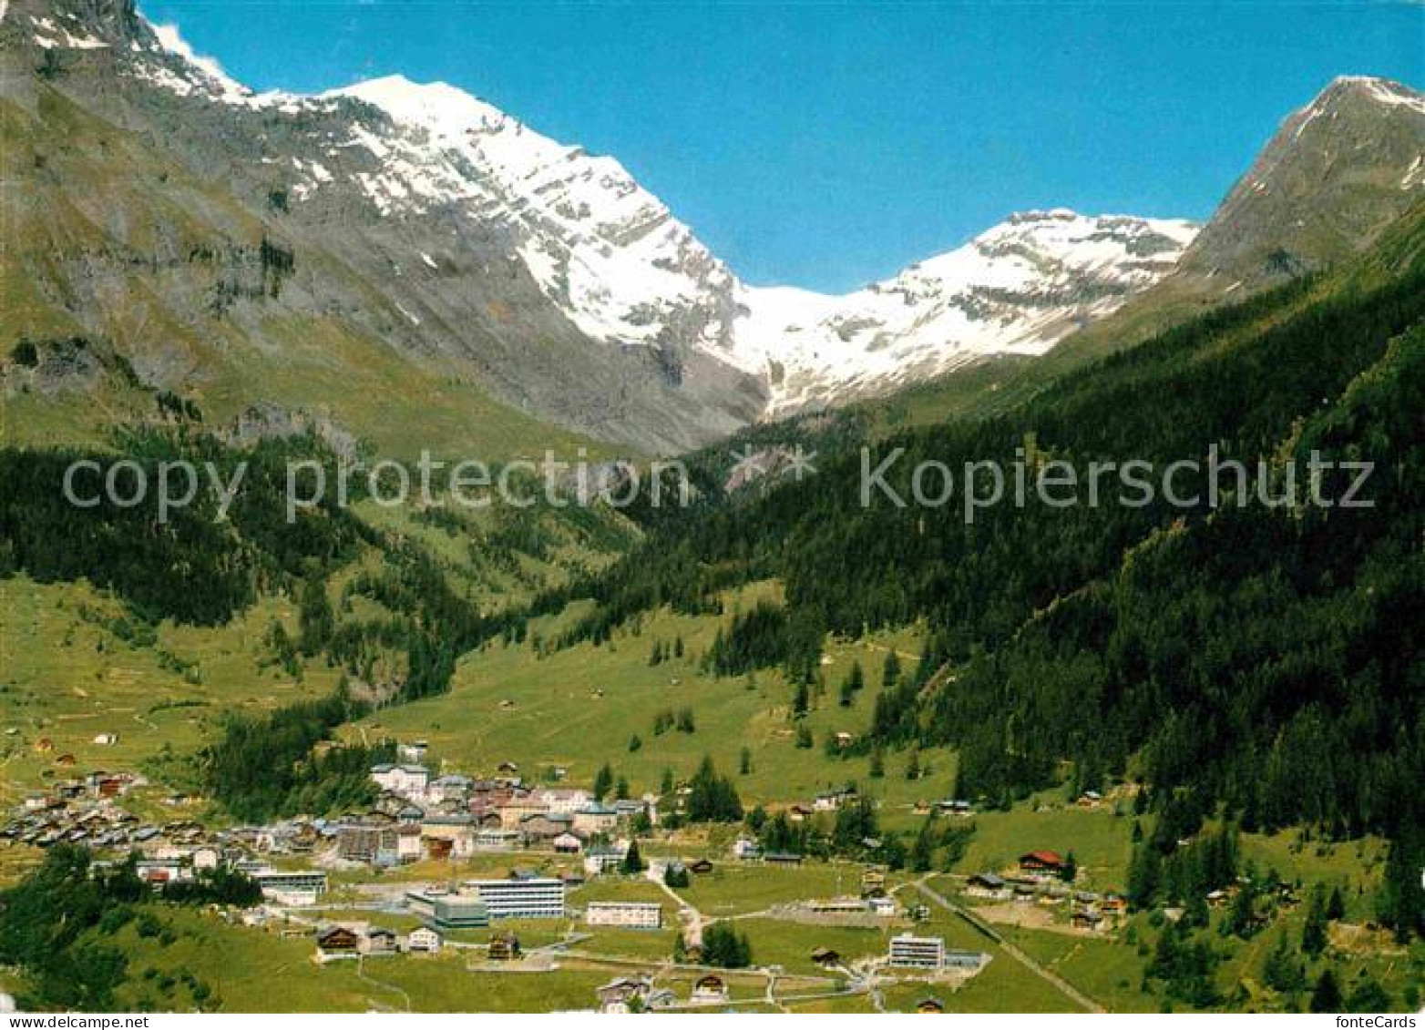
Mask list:
MULTIPOLYGON (((395 268, 436 272, 430 255, 446 255, 482 276, 467 292, 479 298, 482 332, 497 342, 571 336, 587 360, 633 369, 631 389, 651 376, 671 390, 670 422, 677 412, 724 426, 758 406, 764 417, 782 415, 990 355, 1043 353, 1161 278, 1194 234, 1180 221, 1035 211, 842 296, 748 286, 617 160, 546 137, 455 85, 398 74, 316 95, 258 94, 175 28, 150 26, 131 0, 94 0, 103 17, 76 3, 50 7, 68 26, 66 40, 97 33, 134 80, 205 105, 208 138, 224 148, 247 141, 232 160, 251 165, 261 195, 281 195, 285 217, 302 222, 311 209, 314 228, 338 212, 386 225, 399 236, 385 258, 395 268)), ((449 333, 432 339, 437 329, 418 311, 460 306, 440 295, 455 283, 403 282, 390 309, 408 345, 463 353, 469 318, 436 319, 449 333)), ((522 373, 532 373, 516 368, 519 346, 500 350, 500 379, 523 403, 522 373)))

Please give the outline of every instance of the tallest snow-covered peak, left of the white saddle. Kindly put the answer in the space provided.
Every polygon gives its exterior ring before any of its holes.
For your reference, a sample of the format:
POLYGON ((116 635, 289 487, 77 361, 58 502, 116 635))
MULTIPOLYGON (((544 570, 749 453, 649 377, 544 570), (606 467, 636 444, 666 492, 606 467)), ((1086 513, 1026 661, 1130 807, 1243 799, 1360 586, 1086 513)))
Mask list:
POLYGON ((540 135, 445 83, 390 76, 323 94, 339 97, 379 108, 396 128, 393 140, 356 138, 386 164, 366 184, 383 211, 480 205, 514 229, 546 295, 596 340, 670 342, 670 326, 693 318, 697 343, 727 345, 717 298, 731 274, 614 158, 540 135))

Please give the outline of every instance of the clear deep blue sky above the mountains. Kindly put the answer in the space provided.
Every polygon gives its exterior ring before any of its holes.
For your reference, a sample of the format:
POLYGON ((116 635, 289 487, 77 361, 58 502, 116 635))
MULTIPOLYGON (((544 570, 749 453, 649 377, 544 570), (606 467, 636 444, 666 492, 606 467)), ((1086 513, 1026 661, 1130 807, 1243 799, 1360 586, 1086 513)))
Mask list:
POLYGON ((403 73, 613 154, 748 282, 842 291, 1010 211, 1206 218, 1421 3, 141 0, 256 88, 403 73))

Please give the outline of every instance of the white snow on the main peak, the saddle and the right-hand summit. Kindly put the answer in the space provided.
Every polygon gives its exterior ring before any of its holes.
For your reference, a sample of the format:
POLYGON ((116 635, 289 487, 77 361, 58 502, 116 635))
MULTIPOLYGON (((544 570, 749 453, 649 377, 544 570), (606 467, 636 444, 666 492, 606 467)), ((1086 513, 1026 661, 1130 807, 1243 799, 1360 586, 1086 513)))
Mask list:
POLYGON ((765 380, 768 413, 884 392, 996 353, 1037 355, 1173 268, 1183 221, 1012 215, 969 244, 845 296, 754 288, 613 158, 529 130, 443 83, 323 94, 383 111, 396 137, 365 187, 383 209, 482 204, 517 228, 546 295, 606 343, 694 346, 765 380))

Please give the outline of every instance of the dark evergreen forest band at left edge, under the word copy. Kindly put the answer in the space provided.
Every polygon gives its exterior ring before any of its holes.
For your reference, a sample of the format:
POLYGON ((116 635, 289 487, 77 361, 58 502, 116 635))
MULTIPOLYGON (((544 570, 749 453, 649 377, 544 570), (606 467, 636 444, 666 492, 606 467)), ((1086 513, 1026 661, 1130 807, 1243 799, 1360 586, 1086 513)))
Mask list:
MULTIPOLYGON (((247 608, 258 593, 312 568, 351 558, 375 534, 332 499, 286 520, 286 463, 321 462, 335 474, 335 456, 315 437, 264 440, 248 450, 224 446, 187 427, 144 430, 118 440, 120 453, 0 449, 0 576, 17 571, 41 581, 88 578, 123 597, 141 617, 214 625, 247 608), (164 462, 211 463, 224 484, 241 489, 227 517, 202 483, 194 503, 157 517, 155 483, 164 462), (90 462, 73 476, 66 470, 90 462), (114 490, 104 489, 113 477, 114 490), (140 482, 145 494, 138 503, 140 482)), ((178 480, 174 480, 175 484, 178 480)), ((177 491, 175 486, 175 491, 177 491)))

